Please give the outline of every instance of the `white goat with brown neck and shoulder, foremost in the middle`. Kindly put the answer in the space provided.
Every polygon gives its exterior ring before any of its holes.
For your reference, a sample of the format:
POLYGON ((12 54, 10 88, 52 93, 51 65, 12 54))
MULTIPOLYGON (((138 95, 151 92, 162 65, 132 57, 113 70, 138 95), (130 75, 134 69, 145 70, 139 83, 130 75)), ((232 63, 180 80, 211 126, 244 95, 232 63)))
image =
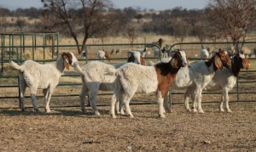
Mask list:
POLYGON ((116 87, 112 96, 110 114, 115 118, 114 106, 116 100, 125 104, 125 109, 130 117, 130 100, 135 93, 155 93, 157 97, 160 117, 164 115, 163 97, 172 85, 177 71, 188 65, 186 53, 177 51, 168 63, 159 63, 154 66, 126 64, 119 69, 107 69, 107 75, 117 76, 116 87))

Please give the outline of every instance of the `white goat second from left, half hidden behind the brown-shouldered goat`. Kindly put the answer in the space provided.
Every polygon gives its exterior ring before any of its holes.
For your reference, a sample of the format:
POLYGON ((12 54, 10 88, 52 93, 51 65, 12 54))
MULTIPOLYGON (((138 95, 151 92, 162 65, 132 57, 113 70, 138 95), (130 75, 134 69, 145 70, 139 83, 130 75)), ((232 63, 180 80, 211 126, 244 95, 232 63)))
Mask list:
MULTIPOLYGON (((142 64, 143 59, 139 52, 131 53, 127 62, 134 62, 136 64, 142 64)), ((116 69, 126 63, 117 65, 108 65, 99 61, 90 61, 83 68, 80 68, 78 64, 75 65, 75 70, 79 71, 82 79, 82 90, 80 93, 80 105, 81 110, 85 113, 84 99, 85 96, 89 96, 89 101, 92 109, 96 115, 100 115, 96 108, 96 95, 99 90, 101 91, 113 91, 115 85, 114 80, 116 76, 109 76, 104 74, 105 69, 116 69)))

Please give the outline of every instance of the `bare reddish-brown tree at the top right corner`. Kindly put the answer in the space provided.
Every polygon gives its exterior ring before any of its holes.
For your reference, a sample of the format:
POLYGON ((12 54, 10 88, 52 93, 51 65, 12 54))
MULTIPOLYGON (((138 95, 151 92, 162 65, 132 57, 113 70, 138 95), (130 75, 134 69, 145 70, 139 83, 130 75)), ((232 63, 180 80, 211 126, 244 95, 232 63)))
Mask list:
POLYGON ((207 6, 208 19, 215 33, 227 41, 245 42, 256 19, 256 0, 212 0, 207 6))

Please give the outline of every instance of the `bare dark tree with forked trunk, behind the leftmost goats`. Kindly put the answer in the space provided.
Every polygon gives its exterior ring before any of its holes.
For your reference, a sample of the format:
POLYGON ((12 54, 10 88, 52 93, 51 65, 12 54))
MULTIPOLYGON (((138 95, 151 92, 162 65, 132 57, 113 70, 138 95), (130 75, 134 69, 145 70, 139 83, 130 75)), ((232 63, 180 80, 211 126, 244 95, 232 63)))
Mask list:
POLYGON ((50 12, 49 17, 54 18, 50 25, 67 29, 79 53, 90 37, 102 36, 101 33, 110 30, 115 23, 116 14, 106 14, 113 6, 109 0, 42 0, 42 3, 50 12), (82 47, 79 47, 79 34, 83 36, 82 47))

